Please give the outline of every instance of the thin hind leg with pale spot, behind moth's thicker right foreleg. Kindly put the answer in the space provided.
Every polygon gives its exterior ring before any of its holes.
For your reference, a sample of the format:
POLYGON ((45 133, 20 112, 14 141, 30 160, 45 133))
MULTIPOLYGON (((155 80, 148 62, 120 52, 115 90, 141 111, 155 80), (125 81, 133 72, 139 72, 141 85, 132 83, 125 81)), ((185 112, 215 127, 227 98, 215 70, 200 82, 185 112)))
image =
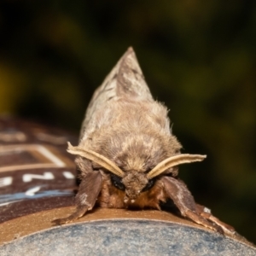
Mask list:
POLYGON ((214 217, 209 208, 196 204, 196 212, 198 212, 201 215, 201 217, 207 218, 212 223, 215 223, 218 226, 220 226, 224 230, 224 233, 227 233, 227 234, 236 233, 236 230, 232 226, 230 226, 229 224, 225 224, 218 218, 214 217))

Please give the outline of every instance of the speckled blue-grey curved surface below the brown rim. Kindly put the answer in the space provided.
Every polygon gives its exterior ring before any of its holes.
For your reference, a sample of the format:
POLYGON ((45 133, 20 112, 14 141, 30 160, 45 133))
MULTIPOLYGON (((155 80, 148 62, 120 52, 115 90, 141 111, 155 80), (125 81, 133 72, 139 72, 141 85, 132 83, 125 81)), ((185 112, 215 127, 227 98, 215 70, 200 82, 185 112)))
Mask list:
POLYGON ((142 219, 69 224, 18 238, 1 255, 256 255, 254 247, 183 224, 142 219))

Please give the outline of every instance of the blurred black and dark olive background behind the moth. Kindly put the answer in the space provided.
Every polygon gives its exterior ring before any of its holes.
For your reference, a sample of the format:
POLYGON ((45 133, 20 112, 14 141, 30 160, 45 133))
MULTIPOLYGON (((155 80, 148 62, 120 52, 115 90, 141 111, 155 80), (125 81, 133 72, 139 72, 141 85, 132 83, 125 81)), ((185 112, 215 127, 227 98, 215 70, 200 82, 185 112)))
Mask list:
POLYGON ((0 2, 0 113, 79 134, 85 108, 133 46, 171 108, 180 176, 198 203, 256 242, 256 2, 0 2))

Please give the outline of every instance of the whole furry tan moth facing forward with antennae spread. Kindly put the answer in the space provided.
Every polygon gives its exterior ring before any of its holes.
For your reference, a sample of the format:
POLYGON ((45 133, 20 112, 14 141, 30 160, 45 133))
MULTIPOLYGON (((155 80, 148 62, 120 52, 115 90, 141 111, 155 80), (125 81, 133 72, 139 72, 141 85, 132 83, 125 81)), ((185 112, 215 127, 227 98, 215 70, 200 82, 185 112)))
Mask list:
POLYGON ((76 212, 55 219, 64 224, 84 216, 95 205, 108 208, 153 208, 172 201, 184 218, 220 233, 233 228, 195 203, 178 166, 206 155, 181 154, 166 107, 154 101, 132 48, 95 91, 87 108, 76 155, 79 191, 76 212))

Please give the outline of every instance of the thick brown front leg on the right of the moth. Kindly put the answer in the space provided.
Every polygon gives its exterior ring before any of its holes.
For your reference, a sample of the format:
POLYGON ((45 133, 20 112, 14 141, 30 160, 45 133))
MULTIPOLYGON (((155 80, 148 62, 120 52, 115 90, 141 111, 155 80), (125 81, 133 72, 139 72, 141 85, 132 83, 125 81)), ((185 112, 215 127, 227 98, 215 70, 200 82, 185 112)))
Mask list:
POLYGON ((166 196, 172 199, 183 217, 190 218, 196 224, 201 224, 221 234, 224 233, 224 230, 218 224, 208 221, 207 218, 197 212, 195 200, 181 180, 166 176, 161 177, 160 180, 164 185, 166 196))

